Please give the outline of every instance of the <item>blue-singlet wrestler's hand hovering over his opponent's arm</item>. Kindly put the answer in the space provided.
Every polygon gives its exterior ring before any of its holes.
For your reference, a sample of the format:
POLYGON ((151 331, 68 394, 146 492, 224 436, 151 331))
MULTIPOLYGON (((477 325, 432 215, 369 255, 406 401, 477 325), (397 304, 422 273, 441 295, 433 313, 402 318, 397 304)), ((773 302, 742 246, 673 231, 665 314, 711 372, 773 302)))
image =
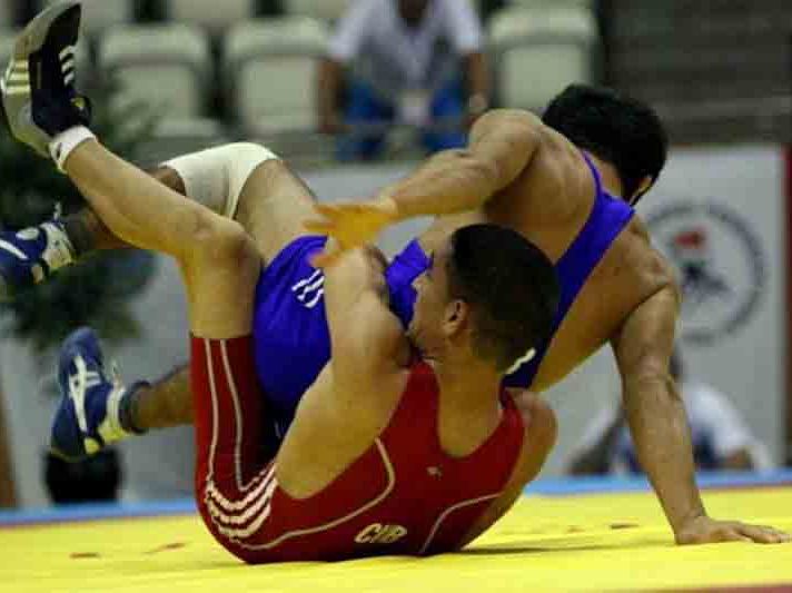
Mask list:
POLYGON ((347 249, 373 243, 382 229, 398 220, 396 202, 389 198, 317 204, 314 208, 321 218, 306 221, 305 228, 335 239, 328 241, 324 253, 311 259, 317 268, 331 266, 347 249))

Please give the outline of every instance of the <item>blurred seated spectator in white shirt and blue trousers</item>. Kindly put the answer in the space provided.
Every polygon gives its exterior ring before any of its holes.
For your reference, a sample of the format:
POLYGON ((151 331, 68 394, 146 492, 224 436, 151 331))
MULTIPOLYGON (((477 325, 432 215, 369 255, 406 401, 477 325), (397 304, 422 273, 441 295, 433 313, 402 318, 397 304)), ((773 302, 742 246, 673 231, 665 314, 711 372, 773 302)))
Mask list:
POLYGON ((429 152, 464 146, 489 105, 482 46, 468 0, 357 0, 319 66, 320 131, 352 132, 345 160, 377 157, 393 122, 420 128, 429 152))

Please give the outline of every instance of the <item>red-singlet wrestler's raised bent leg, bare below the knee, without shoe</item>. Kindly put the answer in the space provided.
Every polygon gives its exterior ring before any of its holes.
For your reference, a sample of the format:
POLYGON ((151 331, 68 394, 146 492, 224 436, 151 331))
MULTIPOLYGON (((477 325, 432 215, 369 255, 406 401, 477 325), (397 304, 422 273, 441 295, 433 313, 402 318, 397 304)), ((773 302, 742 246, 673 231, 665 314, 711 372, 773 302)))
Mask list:
POLYGON ((236 543, 259 528, 276 485, 261 447, 268 435, 250 336, 258 249, 237 223, 177 201, 99 145, 78 148, 66 168, 116 235, 179 265, 192 333, 196 500, 211 533, 239 553, 236 543))

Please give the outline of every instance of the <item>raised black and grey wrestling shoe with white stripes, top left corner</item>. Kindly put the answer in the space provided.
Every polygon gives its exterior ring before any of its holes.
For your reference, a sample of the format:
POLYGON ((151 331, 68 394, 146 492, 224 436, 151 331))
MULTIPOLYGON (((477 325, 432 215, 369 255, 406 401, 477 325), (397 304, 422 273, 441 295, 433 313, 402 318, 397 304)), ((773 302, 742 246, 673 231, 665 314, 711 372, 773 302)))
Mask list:
POLYGON ((17 37, 0 80, 11 132, 47 158, 58 135, 90 122, 88 101, 75 88, 80 13, 73 1, 43 10, 17 37))

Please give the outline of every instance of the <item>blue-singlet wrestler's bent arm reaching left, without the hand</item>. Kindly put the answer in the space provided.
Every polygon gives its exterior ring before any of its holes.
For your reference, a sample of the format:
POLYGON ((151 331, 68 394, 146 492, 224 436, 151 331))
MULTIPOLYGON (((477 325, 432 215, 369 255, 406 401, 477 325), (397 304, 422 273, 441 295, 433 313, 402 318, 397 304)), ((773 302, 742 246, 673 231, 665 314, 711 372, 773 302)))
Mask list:
POLYGON ((527 111, 488 111, 471 130, 467 148, 437 154, 386 188, 382 198, 393 200, 399 219, 476 209, 528 166, 542 142, 542 128, 527 111))

